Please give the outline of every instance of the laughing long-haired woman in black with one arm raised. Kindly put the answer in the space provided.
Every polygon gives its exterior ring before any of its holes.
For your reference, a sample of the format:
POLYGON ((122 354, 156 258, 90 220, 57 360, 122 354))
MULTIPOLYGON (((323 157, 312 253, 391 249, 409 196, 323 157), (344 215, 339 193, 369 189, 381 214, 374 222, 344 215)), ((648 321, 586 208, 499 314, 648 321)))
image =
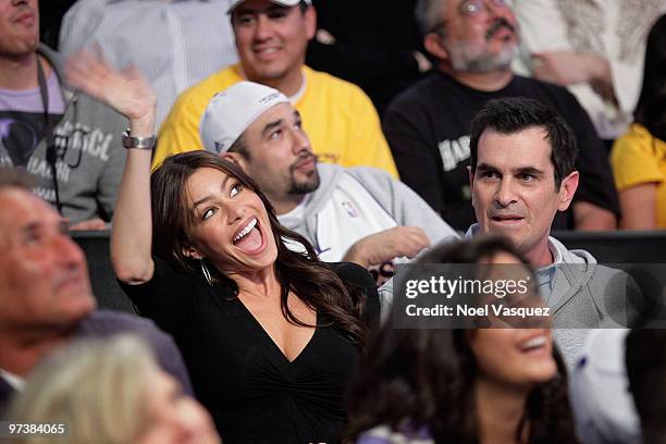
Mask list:
POLYGON ((336 442, 344 391, 379 318, 367 271, 320 262, 251 178, 213 155, 174 156, 150 176, 146 82, 89 54, 69 73, 131 121, 112 263, 140 313, 173 334, 223 441, 336 442))

